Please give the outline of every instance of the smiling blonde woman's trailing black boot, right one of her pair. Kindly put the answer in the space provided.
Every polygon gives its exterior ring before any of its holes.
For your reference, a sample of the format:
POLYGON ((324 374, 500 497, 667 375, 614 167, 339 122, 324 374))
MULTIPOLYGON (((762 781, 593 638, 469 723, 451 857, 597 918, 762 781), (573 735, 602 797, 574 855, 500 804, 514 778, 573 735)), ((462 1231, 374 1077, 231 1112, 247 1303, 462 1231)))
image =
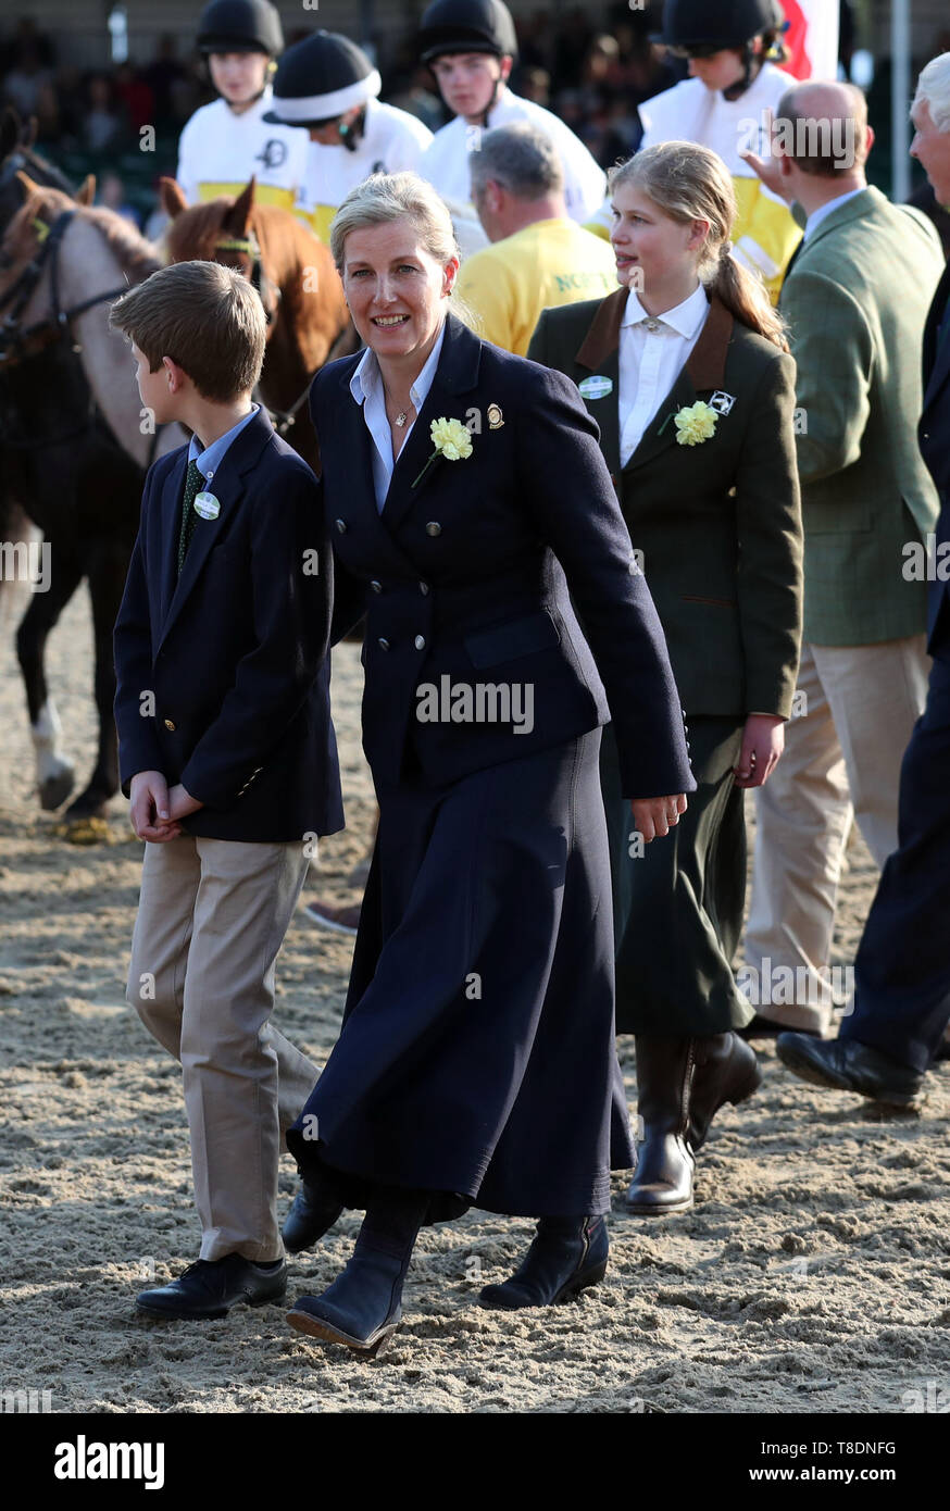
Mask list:
POLYGON ((609 1250, 603 1216, 541 1218, 538 1238, 515 1274, 500 1286, 485 1286, 479 1306, 515 1312, 569 1301, 604 1278, 609 1250))

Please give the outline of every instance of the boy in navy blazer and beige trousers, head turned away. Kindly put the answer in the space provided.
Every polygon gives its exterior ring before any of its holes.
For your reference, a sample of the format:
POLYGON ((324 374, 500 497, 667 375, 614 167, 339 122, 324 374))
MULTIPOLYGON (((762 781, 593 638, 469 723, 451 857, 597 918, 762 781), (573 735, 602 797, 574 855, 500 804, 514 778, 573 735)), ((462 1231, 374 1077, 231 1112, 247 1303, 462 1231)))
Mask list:
POLYGON ((124 295, 142 403, 193 431, 145 480, 115 627, 119 768, 145 843, 128 1000, 181 1061, 201 1254, 151 1316, 279 1299, 278 1156, 317 1068, 269 1027, 319 836, 343 828, 332 558, 307 464, 252 402, 266 320, 217 263, 124 295))

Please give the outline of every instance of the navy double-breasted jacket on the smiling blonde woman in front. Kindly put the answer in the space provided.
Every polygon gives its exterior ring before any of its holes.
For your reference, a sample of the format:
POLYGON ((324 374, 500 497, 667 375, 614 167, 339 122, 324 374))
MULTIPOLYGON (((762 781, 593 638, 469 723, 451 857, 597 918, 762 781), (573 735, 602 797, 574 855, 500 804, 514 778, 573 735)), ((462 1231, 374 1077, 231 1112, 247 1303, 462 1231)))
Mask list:
POLYGON ((399 783, 408 760, 432 784, 455 781, 613 718, 625 796, 692 792, 660 620, 574 384, 449 314, 379 514, 373 441, 349 391, 361 355, 317 373, 310 402, 335 556, 332 639, 367 613, 362 746, 376 786, 399 783), (470 426, 473 453, 417 480, 441 417, 470 426), (530 684, 533 727, 423 722, 420 684, 530 684))

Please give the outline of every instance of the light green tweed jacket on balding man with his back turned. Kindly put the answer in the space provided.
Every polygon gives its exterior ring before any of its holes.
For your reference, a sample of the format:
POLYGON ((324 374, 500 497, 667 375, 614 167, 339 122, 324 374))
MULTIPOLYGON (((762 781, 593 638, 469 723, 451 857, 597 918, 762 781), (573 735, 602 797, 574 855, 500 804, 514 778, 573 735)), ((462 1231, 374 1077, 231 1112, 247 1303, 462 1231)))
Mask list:
POLYGON ((805 641, 816 645, 926 627, 926 583, 905 582, 902 550, 939 512, 917 422, 924 322, 942 270, 927 216, 871 187, 816 227, 782 284, 797 363, 805 641))

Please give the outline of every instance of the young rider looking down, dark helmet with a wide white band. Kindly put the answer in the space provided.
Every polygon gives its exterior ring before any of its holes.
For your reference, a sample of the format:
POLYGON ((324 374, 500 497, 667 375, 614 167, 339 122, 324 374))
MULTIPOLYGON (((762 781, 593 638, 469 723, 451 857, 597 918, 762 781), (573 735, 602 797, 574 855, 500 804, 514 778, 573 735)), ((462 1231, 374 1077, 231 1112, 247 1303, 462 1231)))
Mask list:
POLYGON ((329 242, 329 222, 355 184, 370 174, 418 168, 432 141, 417 116, 382 104, 379 89, 367 54, 335 32, 304 38, 278 65, 264 121, 304 127, 310 136, 295 209, 322 242, 329 242))

